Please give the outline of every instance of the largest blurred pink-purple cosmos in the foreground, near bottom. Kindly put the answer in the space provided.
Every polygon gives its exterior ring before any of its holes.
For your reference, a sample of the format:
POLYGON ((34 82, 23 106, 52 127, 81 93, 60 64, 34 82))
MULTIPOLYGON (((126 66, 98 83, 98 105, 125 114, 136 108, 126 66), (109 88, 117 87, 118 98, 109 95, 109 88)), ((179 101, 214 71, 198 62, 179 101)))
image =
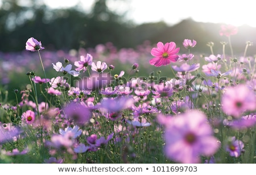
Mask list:
POLYGON ((166 118, 166 122, 160 123, 165 126, 164 152, 168 159, 184 164, 200 163, 200 155, 212 156, 220 147, 207 117, 198 110, 166 118))

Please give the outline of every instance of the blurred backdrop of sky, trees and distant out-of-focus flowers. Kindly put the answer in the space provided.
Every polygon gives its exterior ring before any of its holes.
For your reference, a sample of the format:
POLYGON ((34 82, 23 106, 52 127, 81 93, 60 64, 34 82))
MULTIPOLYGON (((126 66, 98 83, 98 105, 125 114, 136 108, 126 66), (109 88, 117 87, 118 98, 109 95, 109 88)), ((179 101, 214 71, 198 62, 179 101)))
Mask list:
MULTIPOLYGON (((255 10, 253 1, 230 2, 0 0, 0 90, 24 89, 30 84, 28 71, 43 77, 38 53, 25 51, 30 37, 42 41, 46 48, 40 53, 48 78, 56 76, 52 63, 69 59, 73 64, 86 53, 92 54, 94 61, 114 64, 117 74, 125 70, 127 76, 131 65, 138 62, 141 76, 161 70, 161 76, 170 77, 170 69, 148 64, 152 47, 158 41, 174 41, 180 54, 188 53, 182 43, 191 39, 197 41, 191 51, 195 61, 210 55, 209 42, 214 43, 214 55, 222 54, 220 42, 228 42, 228 38, 219 34, 221 24, 238 27, 232 45, 240 57, 246 41, 256 42, 255 10)), ((247 51, 247 55, 255 53, 254 46, 247 51)), ((230 54, 228 46, 226 54, 230 54)))

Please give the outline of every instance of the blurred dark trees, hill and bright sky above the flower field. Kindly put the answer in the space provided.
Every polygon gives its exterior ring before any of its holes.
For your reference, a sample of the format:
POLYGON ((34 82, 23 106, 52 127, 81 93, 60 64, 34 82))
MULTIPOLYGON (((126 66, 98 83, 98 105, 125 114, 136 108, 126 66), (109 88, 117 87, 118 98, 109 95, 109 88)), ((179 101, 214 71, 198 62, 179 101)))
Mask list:
MULTIPOLYGON (((23 51, 30 37, 47 50, 79 49, 113 43, 117 49, 136 48, 144 41, 195 39, 195 52, 210 53, 212 41, 221 52, 220 24, 239 27, 232 36, 234 49, 243 51, 255 40, 250 1, 146 1, 146 0, 0 0, 0 51, 23 51)), ((250 51, 249 51, 250 52, 250 51)))

